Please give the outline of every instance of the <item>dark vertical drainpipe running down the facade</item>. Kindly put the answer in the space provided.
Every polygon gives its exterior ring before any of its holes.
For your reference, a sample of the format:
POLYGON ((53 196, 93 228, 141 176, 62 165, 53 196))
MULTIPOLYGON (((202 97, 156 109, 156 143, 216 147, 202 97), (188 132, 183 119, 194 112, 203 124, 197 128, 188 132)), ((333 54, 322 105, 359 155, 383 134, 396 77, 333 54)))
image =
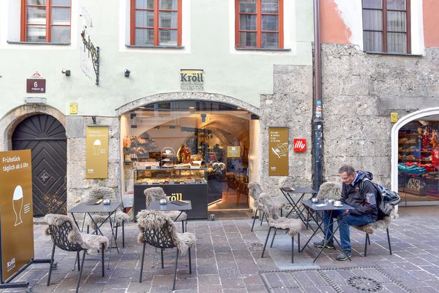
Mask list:
POLYGON ((314 0, 314 116, 313 128, 313 159, 314 159, 314 190, 318 191, 323 180, 322 172, 322 79, 321 79, 321 42, 320 42, 320 0, 314 0))

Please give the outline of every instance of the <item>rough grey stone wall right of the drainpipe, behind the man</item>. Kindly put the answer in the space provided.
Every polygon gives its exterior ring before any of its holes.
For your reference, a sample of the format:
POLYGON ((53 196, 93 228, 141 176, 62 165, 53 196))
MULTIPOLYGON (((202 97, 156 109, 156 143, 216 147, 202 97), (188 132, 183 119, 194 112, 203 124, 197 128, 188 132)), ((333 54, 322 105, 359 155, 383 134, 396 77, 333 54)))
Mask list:
POLYGON ((323 44, 323 176, 342 164, 371 171, 390 187, 390 113, 399 118, 439 105, 439 49, 425 56, 367 54, 323 44))

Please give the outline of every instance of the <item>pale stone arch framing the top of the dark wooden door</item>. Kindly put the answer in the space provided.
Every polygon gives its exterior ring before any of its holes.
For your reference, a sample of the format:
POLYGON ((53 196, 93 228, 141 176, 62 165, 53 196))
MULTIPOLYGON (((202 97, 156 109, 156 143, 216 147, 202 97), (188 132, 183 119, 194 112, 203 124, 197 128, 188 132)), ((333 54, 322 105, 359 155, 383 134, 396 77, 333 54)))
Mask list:
POLYGON ((66 116, 58 109, 47 105, 22 105, 6 113, 0 120, 0 129, 3 129, 0 139, 0 150, 12 150, 12 135, 15 127, 24 119, 37 115, 47 114, 59 120, 66 128, 66 116))

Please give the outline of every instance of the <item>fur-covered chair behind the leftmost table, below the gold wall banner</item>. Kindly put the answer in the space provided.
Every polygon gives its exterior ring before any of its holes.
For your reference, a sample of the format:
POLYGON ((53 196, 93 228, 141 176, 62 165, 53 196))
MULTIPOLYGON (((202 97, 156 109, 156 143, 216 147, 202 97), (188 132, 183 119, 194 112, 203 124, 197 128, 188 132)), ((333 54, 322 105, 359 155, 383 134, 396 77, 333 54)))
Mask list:
MULTIPOLYGON (((90 191, 88 191, 88 193, 86 193, 86 202, 90 201, 90 200, 105 200, 105 199, 109 199, 109 200, 118 200, 118 198, 116 198, 116 193, 114 192, 113 189, 109 188, 109 187, 93 187, 90 189, 90 191)), ((116 232, 114 235, 114 239, 116 241, 117 239, 117 234, 118 234, 118 227, 122 228, 122 247, 125 247, 125 222, 131 221, 130 216, 128 216, 128 214, 125 214, 124 212, 121 211, 121 209, 117 209, 116 210, 116 217, 114 217, 114 215, 111 215, 111 217, 109 219, 107 219, 108 217, 108 213, 93 213, 92 214, 93 220, 95 221, 95 223, 97 223, 98 225, 104 223, 106 220, 109 221, 109 223, 112 225, 112 227, 116 228, 116 232), (114 223, 113 223, 114 221, 114 223)), ((87 224, 87 232, 88 232, 88 227, 90 226, 93 230, 97 229, 97 227, 95 226, 95 223, 93 223, 93 221, 91 221, 91 219, 87 216, 86 217, 86 224, 87 224)))

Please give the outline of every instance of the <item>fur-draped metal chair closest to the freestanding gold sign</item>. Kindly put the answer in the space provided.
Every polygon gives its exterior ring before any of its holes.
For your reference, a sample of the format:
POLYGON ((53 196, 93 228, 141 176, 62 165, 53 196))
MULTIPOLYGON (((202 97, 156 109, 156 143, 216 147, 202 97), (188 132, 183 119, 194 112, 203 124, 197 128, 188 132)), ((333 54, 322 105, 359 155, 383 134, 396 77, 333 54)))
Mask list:
POLYGON ((49 226, 45 230, 46 235, 52 237, 54 246, 52 248, 52 257, 50 258, 49 276, 47 278, 47 286, 50 285, 50 277, 52 276, 52 267, 54 264, 55 247, 61 248, 63 251, 76 251, 79 277, 76 286, 78 292, 81 283, 82 270, 84 269, 84 259, 88 251, 101 251, 102 254, 102 277, 105 276, 104 251, 108 247, 108 238, 100 235, 90 235, 79 232, 75 222, 69 217, 62 214, 47 214, 45 221, 49 226), (82 253, 82 262, 79 264, 79 253, 82 253))

